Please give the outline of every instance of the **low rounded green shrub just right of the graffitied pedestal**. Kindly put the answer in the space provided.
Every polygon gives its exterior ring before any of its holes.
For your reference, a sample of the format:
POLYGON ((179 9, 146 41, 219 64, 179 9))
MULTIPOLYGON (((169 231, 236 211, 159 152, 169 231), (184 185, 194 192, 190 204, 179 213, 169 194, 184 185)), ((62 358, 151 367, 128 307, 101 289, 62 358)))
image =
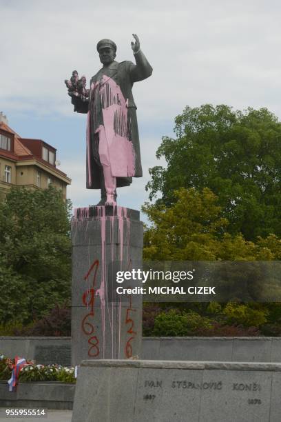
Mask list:
POLYGON ((198 328, 211 328, 211 321, 196 312, 179 312, 171 309, 161 312, 154 321, 155 336, 190 336, 198 328))

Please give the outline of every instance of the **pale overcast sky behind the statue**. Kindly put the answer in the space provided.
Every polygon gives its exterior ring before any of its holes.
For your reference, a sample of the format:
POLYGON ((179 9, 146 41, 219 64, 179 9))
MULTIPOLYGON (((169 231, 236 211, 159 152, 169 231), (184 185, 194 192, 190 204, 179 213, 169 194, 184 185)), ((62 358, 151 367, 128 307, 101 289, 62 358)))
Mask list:
POLYGON ((89 81, 101 68, 102 38, 116 42, 117 61, 134 61, 138 34, 154 68, 133 89, 144 176, 118 189, 119 205, 147 200, 148 168, 185 106, 267 107, 281 118, 278 0, 0 0, 0 17, 0 111, 22 137, 57 148, 74 207, 100 195, 85 189, 85 115, 73 112, 63 81, 74 69, 89 81))

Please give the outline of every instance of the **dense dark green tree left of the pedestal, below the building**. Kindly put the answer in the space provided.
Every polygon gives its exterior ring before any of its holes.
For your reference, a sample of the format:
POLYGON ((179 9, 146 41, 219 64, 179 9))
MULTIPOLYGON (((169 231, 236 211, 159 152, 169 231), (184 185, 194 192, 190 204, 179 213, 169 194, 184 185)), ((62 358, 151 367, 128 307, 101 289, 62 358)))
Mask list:
POLYGON ((70 209, 51 186, 12 188, 0 204, 0 323, 28 323, 70 299, 70 209))

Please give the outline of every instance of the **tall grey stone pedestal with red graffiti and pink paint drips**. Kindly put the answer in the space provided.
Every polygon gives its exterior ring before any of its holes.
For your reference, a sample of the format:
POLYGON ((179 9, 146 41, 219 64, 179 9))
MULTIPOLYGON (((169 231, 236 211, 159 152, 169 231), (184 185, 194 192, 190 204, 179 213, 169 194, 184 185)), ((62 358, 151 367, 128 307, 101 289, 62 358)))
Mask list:
MULTIPOLYGON (((116 294, 117 270, 141 268, 139 212, 77 208, 72 219, 72 365, 141 356, 141 295, 116 294)), ((134 287, 133 281, 130 287, 134 287)))

